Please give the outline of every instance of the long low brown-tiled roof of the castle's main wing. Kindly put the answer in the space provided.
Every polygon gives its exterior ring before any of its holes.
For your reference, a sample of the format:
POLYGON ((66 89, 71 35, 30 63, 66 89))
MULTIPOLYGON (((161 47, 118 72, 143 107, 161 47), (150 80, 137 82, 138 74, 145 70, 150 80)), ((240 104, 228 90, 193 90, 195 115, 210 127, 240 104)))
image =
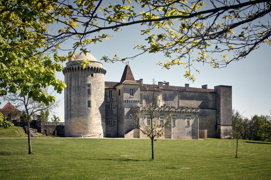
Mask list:
MULTIPOLYGON (((115 88, 117 85, 119 85, 120 82, 104 82, 105 88, 115 88)), ((125 84, 125 83, 123 83, 125 84)), ((140 86, 141 91, 152 90, 153 85, 152 84, 143 84, 140 86)), ((158 85, 155 85, 154 88, 156 88, 156 91, 195 91, 195 92, 214 92, 214 89, 203 89, 203 88, 192 88, 189 87, 188 90, 185 90, 185 87, 182 86, 173 86, 173 85, 163 85, 163 89, 159 89, 158 85)))

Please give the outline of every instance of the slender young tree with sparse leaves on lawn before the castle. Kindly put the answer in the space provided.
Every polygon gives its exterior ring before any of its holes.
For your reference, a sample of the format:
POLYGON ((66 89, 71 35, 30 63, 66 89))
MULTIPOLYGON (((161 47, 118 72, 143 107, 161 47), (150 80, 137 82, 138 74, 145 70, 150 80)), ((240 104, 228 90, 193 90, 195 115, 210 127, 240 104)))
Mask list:
POLYGON ((170 114, 158 110, 160 101, 161 91, 153 80, 151 88, 145 87, 145 104, 137 110, 138 112, 135 112, 135 116, 130 116, 132 125, 151 139, 152 160, 154 160, 154 140, 164 135, 172 119, 170 114))

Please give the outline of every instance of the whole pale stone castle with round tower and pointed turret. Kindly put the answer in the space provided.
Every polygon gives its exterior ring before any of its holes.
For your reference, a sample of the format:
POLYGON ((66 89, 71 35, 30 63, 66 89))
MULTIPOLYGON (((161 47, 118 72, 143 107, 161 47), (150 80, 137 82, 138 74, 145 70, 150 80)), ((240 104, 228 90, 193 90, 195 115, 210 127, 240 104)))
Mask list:
MULTIPOLYGON (((63 69, 67 88, 64 90, 65 137, 136 137, 145 136, 132 125, 130 116, 145 104, 143 79, 135 80, 129 64, 120 82, 105 82, 106 69, 87 53, 70 58, 63 69), (83 60, 92 64, 81 67, 83 60)), ((232 139, 232 86, 217 85, 208 89, 155 85, 160 91, 159 110, 166 118, 173 116, 161 138, 198 139, 199 130, 207 137, 232 139)), ((146 119, 148 119, 146 115, 146 119)))

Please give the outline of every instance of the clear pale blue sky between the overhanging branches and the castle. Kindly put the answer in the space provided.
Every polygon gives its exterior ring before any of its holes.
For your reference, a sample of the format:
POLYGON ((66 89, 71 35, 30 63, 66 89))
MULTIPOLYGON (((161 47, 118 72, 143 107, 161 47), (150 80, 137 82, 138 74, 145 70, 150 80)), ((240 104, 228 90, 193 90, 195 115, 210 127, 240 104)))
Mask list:
MULTIPOLYGON (((270 16, 267 16, 267 19, 270 16)), ((109 41, 90 44, 87 49, 99 60, 102 56, 113 57, 117 54, 119 57, 133 56, 140 51, 134 49, 134 44, 144 44, 144 38, 140 36, 140 25, 134 25, 122 28, 119 32, 102 32, 114 35, 109 41)), ((64 49, 70 49, 74 42, 72 39, 62 45, 64 49)), ((68 51, 59 51, 61 55, 67 55, 68 51)), ((76 54, 79 50, 76 51, 76 54)), ((197 54, 195 54, 197 56, 197 54)), ((213 58, 219 58, 214 56, 213 58)), ((189 83, 190 87, 201 88, 201 85, 207 84, 208 88, 216 85, 232 86, 232 108, 245 111, 244 116, 250 118, 254 114, 270 115, 271 109, 271 46, 262 44, 258 50, 255 50, 245 59, 238 62, 232 62, 225 68, 216 69, 209 64, 195 63, 195 67, 201 70, 196 73, 194 83, 187 81, 183 77, 183 66, 172 67, 170 70, 161 69, 155 62, 164 62, 163 54, 143 54, 133 61, 129 61, 134 78, 143 79, 145 84, 151 84, 152 78, 158 81, 170 82, 170 85, 184 86, 189 83)), ((102 61, 101 61, 102 62, 102 61)), ((125 63, 106 63, 102 62, 107 69, 105 81, 119 82, 125 67, 125 63)), ((63 63, 65 67, 65 63, 63 63)), ((56 73, 58 79, 64 80, 62 72, 56 73)), ((57 99, 63 99, 61 106, 56 110, 57 116, 61 122, 64 122, 64 91, 57 95, 57 99)), ((2 102, 0 108, 6 102, 2 102)))

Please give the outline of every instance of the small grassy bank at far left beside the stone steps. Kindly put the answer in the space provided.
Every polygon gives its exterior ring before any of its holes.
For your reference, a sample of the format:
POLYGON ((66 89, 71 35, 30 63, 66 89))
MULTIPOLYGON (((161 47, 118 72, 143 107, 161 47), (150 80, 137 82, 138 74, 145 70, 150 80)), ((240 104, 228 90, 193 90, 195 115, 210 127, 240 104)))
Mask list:
POLYGON ((27 135, 21 127, 13 126, 8 129, 0 128, 0 138, 1 137, 27 137, 27 135))

